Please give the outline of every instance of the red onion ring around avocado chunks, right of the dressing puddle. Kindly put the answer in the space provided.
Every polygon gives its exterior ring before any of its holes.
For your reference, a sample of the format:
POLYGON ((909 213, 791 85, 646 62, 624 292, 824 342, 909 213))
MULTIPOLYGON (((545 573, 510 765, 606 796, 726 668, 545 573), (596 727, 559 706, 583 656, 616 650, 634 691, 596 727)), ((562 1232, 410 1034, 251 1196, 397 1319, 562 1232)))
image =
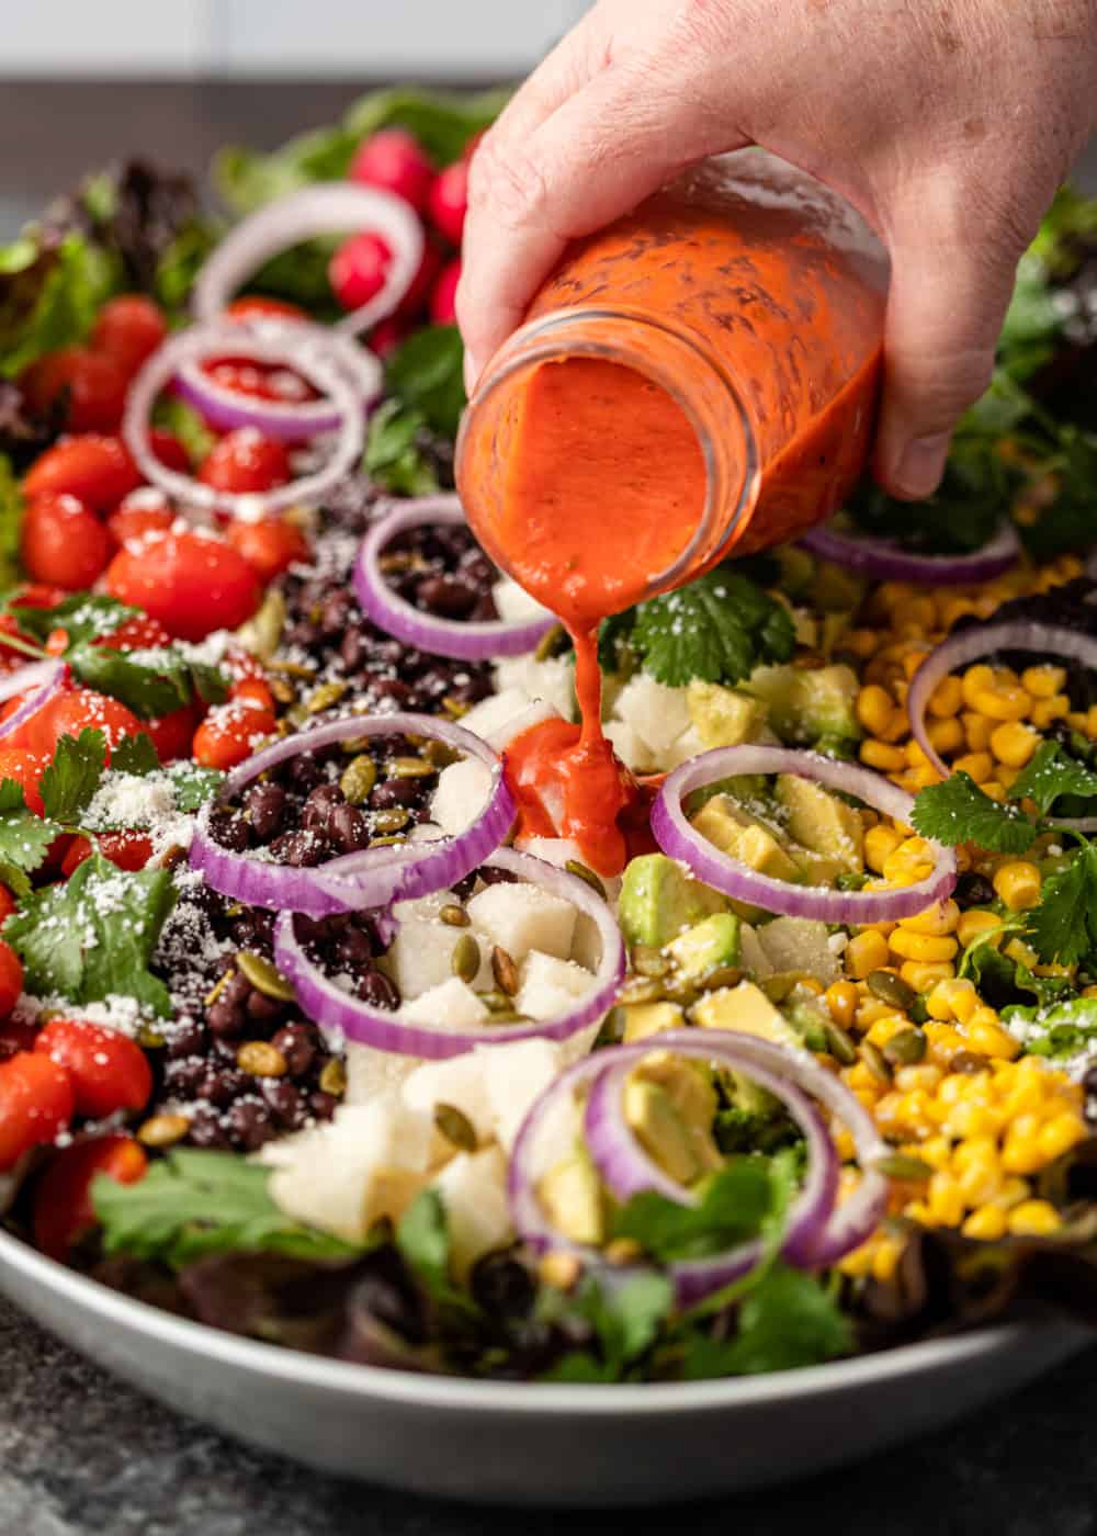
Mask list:
POLYGON ((914 800, 871 768, 836 762, 817 753, 780 746, 719 746, 691 757, 668 774, 651 806, 651 833, 662 851, 688 865, 705 885, 737 902, 762 906, 787 917, 813 917, 824 923, 880 923, 914 917, 926 906, 946 900, 956 885, 956 852, 933 843, 936 863, 916 885, 891 891, 830 891, 793 885, 757 874, 707 842, 685 817, 682 800, 718 779, 734 774, 791 773, 800 779, 854 794, 903 826, 910 826, 914 800))

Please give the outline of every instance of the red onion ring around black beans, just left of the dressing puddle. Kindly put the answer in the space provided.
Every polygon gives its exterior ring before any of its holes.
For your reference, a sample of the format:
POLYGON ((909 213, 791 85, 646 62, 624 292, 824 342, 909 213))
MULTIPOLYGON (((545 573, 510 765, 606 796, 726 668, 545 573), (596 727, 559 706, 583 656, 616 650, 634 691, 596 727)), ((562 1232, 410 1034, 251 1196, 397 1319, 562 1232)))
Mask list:
POLYGON ((307 917, 330 917, 333 912, 389 906, 392 902, 429 895, 455 880, 462 880, 499 846, 513 820, 515 803, 502 776, 502 762, 472 731, 429 714, 350 716, 287 736, 234 768, 215 799, 198 813, 191 842, 191 868, 200 869, 221 895, 247 902, 250 906, 304 912, 307 917), (304 869, 266 863, 254 854, 232 852, 210 836, 212 811, 267 768, 317 746, 366 736, 426 736, 446 742, 467 757, 476 757, 492 770, 484 809, 459 837, 366 848, 304 869))

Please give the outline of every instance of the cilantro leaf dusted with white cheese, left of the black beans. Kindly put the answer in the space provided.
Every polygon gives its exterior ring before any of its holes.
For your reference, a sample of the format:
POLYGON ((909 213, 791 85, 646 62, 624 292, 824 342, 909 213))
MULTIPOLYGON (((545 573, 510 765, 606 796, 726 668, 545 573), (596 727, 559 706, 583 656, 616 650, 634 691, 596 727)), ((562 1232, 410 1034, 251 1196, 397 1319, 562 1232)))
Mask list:
POLYGON ((5 938, 38 997, 94 1003, 120 994, 164 1017, 171 997, 149 960, 174 900, 167 869, 131 872, 92 854, 68 883, 32 891, 5 938))

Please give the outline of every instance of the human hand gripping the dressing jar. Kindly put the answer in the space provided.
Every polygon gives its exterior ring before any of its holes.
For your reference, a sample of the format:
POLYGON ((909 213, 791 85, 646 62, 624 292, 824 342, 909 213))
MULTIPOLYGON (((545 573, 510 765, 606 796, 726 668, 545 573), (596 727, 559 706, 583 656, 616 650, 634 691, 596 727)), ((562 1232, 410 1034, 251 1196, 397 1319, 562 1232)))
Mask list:
POLYGON ((570 240, 757 143, 843 194, 891 253, 874 468, 926 496, 1095 124, 1097 0, 599 0, 476 151, 467 382, 570 240))

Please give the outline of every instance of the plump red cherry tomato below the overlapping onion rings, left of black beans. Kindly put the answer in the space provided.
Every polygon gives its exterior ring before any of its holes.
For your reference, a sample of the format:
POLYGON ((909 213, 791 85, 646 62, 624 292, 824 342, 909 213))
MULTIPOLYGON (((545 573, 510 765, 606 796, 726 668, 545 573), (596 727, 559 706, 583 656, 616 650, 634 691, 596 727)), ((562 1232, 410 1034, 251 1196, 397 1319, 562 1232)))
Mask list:
POLYGON ((106 570, 106 590, 181 641, 240 628, 261 596, 243 554, 224 539, 191 530, 149 535, 137 550, 118 550, 106 570))

